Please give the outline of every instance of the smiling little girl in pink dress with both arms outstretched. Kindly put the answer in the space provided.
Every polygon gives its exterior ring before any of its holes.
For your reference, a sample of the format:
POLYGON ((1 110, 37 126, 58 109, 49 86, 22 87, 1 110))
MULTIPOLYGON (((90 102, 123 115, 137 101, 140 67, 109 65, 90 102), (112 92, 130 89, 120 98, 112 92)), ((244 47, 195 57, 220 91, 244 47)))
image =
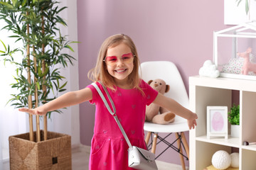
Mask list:
MULTIPOLYGON (((173 99, 158 93, 139 78, 137 49, 127 35, 112 35, 103 42, 96 67, 89 72, 88 77, 96 81, 101 91, 104 90, 98 81, 107 87, 114 101, 117 117, 134 146, 146 149, 143 126, 146 105, 152 102, 186 118, 189 129, 196 126, 196 113, 192 113, 173 99)), ((19 111, 45 115, 48 111, 73 106, 84 101, 90 101, 96 105, 90 169, 132 169, 128 167, 127 142, 94 86, 89 85, 85 89, 68 92, 38 108, 21 108, 19 111)))

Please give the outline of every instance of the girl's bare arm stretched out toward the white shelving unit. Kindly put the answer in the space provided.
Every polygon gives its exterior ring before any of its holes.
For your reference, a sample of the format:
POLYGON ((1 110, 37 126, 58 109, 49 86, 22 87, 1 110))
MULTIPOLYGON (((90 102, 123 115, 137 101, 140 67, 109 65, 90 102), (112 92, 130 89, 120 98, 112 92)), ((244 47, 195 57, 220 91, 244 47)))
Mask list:
POLYGON ((195 128, 196 119, 198 118, 196 113, 193 113, 187 108, 184 108, 178 102, 174 101, 174 99, 168 98, 163 94, 159 93, 153 103, 156 103, 159 106, 166 108, 167 110, 181 116, 182 118, 186 118, 188 120, 188 128, 195 128))

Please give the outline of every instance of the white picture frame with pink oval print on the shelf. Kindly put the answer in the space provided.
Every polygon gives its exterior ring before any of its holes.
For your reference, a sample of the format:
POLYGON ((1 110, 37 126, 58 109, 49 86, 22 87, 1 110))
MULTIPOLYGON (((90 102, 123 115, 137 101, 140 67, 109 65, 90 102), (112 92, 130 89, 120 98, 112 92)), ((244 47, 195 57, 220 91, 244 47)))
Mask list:
POLYGON ((207 106, 207 138, 228 139, 228 106, 207 106))

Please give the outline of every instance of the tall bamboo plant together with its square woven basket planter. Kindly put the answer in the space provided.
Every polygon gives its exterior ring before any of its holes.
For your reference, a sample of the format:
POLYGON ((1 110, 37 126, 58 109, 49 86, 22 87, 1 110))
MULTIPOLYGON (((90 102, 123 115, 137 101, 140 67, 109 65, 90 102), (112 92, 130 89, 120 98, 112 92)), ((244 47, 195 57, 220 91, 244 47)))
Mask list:
MULTIPOLYGON (((58 8, 55 0, 0 0, 0 19, 6 21, 3 29, 14 33, 11 38, 23 42, 23 47, 11 48, 0 41, 4 46, 0 60, 16 65, 16 82, 11 87, 18 89, 18 94, 11 94, 12 106, 36 108, 65 91, 67 82, 60 83, 65 77, 60 75, 59 67, 67 67, 68 62, 72 64, 74 60, 63 52, 64 49, 73 51, 70 47, 73 41, 61 35, 58 28, 58 24, 67 26, 59 16, 65 8, 58 8), (51 91, 53 97, 49 95, 51 91)), ((48 132, 50 113, 43 118, 44 131, 39 128, 39 116, 36 116, 36 132, 33 131, 33 117, 29 115, 30 132, 9 137, 11 169, 47 169, 50 166, 71 169, 71 137, 48 132)))

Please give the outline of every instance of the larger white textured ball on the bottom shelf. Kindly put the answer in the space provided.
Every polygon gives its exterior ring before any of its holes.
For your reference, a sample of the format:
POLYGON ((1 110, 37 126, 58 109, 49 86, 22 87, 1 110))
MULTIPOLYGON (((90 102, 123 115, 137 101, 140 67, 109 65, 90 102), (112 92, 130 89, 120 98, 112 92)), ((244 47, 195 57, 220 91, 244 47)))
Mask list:
POLYGON ((228 152, 219 150, 213 154, 212 164, 215 169, 227 169, 231 164, 231 157, 228 152))

